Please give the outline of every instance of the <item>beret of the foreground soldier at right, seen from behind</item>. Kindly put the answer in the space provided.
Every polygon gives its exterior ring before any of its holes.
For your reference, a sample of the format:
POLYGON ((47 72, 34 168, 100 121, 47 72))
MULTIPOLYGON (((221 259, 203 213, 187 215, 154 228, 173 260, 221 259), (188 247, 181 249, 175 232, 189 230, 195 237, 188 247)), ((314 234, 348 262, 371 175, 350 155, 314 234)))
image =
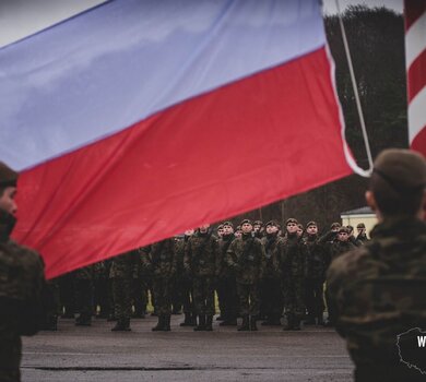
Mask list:
POLYGON ((426 187, 426 162, 410 150, 383 150, 375 160, 371 177, 381 178, 393 191, 404 195, 426 187))

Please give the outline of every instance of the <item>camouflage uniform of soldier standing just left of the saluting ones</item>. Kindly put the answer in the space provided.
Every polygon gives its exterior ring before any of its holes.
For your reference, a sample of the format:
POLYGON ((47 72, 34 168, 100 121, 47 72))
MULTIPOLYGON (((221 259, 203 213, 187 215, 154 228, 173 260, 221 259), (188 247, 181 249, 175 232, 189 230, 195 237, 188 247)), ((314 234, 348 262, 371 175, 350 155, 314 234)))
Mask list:
POLYGON ((326 282, 327 258, 323 246, 318 242, 317 235, 307 235, 307 272, 306 272, 306 308, 308 323, 322 323, 324 311, 323 284, 326 282))

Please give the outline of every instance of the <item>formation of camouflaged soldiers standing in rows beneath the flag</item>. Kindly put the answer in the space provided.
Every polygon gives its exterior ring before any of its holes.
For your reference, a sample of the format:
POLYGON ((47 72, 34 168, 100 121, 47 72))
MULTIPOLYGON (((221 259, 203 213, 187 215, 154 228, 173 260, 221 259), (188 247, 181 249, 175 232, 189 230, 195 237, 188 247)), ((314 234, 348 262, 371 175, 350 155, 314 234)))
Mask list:
POLYGON ((132 313, 142 318, 145 312, 150 286, 154 314, 158 317, 153 331, 169 331, 173 309, 180 307, 185 313, 181 326, 213 330, 215 293, 220 325, 237 325, 237 319, 242 318, 239 330, 256 331, 258 320, 263 320, 262 325, 281 325, 283 315, 285 330, 298 331, 303 322, 332 325, 332 307, 328 308, 329 320, 323 322, 324 275, 332 260, 365 242, 362 237, 355 238, 339 223, 319 237, 315 222, 309 222, 305 231, 295 218, 286 222, 284 236, 279 235, 281 227, 275 220, 264 228, 258 220, 256 231, 253 227, 245 219, 239 226, 240 236, 236 236, 233 224, 225 222, 215 236, 204 225, 105 264, 97 263, 93 272, 91 266, 79 270, 71 275, 75 296, 72 317, 78 312, 76 324, 90 325, 97 307, 105 318, 110 305, 114 309, 108 320, 117 321, 113 330, 130 331, 132 313), (104 274, 110 277, 106 287, 96 283, 104 274), (99 290, 100 285, 107 290, 99 290), (113 293, 108 294, 109 288, 113 293), (94 305, 93 289, 95 297, 105 291, 94 305), (110 303, 105 302, 108 295, 110 303), (180 296, 180 302, 176 296, 180 296))

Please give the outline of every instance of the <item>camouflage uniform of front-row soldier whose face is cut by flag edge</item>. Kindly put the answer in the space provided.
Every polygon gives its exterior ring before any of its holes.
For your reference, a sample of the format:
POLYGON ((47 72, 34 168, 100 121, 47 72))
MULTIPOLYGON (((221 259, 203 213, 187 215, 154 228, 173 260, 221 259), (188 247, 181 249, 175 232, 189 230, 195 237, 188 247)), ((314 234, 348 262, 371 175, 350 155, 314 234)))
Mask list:
POLYGON ((197 231, 189 238, 185 249, 184 267, 193 277, 193 302, 199 317, 199 330, 212 330, 217 256, 217 239, 211 232, 197 231))

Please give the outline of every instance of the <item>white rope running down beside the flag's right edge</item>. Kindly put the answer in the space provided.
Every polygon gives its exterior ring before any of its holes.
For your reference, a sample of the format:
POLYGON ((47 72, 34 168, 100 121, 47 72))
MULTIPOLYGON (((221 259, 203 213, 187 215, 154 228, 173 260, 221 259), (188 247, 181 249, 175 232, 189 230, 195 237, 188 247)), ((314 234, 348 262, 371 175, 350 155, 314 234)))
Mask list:
POLYGON ((354 165, 353 160, 348 160, 348 163, 350 163, 350 166, 353 168, 353 170, 356 174, 358 174, 358 175, 360 175, 363 177, 369 177, 371 175, 371 172, 372 172, 371 150, 370 150, 370 144, 369 144, 369 141, 368 141, 367 129, 365 127, 364 114, 363 114, 363 108, 362 108, 362 105, 360 105, 360 99, 359 99, 359 94, 358 94, 358 86, 357 86, 356 79, 355 79, 355 72, 354 72, 354 68, 353 68, 353 64, 352 64, 350 46, 347 44, 346 32, 345 32, 345 27, 344 27, 343 20, 342 20, 342 14, 340 12, 339 0, 335 0, 335 7, 338 9, 339 24, 340 24, 340 28, 341 28, 341 32, 342 32, 343 46, 345 48, 347 64, 348 64, 348 68, 350 68, 350 74, 351 74, 351 80, 352 80, 352 87, 353 87, 354 94, 355 94, 355 103, 356 103, 356 108, 358 110, 359 122, 360 122, 360 128, 362 128, 362 131, 363 131, 363 136, 364 136, 364 142, 365 142, 365 148, 366 148, 366 152, 367 152, 369 168, 367 170, 363 170, 357 165, 355 165, 356 168, 354 168, 353 167, 353 165, 354 165))

